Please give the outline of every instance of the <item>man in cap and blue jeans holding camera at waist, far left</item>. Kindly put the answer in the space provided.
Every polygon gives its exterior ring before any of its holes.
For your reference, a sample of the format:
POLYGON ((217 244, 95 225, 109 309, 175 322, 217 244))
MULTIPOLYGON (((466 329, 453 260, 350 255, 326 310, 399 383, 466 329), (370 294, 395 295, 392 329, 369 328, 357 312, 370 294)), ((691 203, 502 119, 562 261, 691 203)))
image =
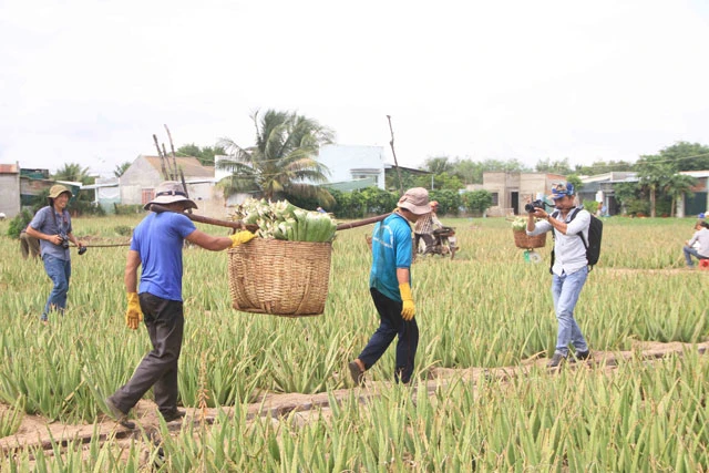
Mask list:
POLYGON ((27 227, 27 234, 40 240, 44 270, 54 282, 42 311, 41 319, 44 323, 48 323, 50 311, 64 315, 71 278, 69 243, 83 250, 83 245, 72 233, 71 216, 66 210, 71 196, 71 191, 63 185, 53 185, 49 189, 49 205, 40 208, 27 227))

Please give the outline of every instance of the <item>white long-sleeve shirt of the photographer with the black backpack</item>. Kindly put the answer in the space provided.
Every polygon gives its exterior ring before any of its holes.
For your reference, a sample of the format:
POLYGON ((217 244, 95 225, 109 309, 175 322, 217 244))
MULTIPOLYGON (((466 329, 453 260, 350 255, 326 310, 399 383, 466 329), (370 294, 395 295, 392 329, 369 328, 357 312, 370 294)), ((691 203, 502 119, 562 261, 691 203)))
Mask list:
MULTIPOLYGON (((576 213, 576 217, 573 220, 569 220, 574 212, 576 210, 571 209, 568 214, 566 214, 566 220, 564 220, 567 225, 566 235, 555 230, 554 227, 552 227, 552 224, 546 220, 536 222, 534 224, 534 229, 532 232, 527 232, 527 235, 530 236, 542 235, 549 230, 554 232, 554 266, 552 266, 552 273, 556 276, 562 276, 564 274, 571 275, 584 266, 588 266, 588 260, 586 259, 586 247, 584 246, 584 241, 582 241, 580 237, 576 234, 582 232, 586 239, 586 244, 588 244, 590 214, 588 210, 580 209, 576 213)), ((552 215, 554 215, 554 213, 552 213, 552 215)), ((561 219, 561 214, 554 218, 561 219)))

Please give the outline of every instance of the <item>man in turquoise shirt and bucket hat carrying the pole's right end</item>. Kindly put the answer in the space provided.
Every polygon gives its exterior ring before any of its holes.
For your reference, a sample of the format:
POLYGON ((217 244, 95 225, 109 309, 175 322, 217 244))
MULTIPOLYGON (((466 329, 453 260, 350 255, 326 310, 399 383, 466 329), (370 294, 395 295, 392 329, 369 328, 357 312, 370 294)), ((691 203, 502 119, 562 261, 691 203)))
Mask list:
POLYGON ((414 187, 404 193, 389 217, 374 226, 369 290, 379 312, 379 328, 359 357, 349 363, 352 381, 358 385, 363 384, 364 371, 384 354, 397 336, 394 380, 403 383, 411 380, 419 327, 413 318, 410 274, 413 245, 409 223, 430 212, 428 191, 414 187))

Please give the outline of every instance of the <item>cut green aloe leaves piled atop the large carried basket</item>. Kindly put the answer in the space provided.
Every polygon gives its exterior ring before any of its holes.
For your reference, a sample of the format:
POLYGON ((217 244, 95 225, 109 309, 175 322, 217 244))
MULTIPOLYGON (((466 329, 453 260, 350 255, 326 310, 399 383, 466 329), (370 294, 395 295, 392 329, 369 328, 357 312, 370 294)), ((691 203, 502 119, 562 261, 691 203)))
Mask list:
POLYGON ((250 198, 236 209, 236 217, 258 225, 256 235, 290 241, 332 241, 337 224, 328 214, 296 207, 288 200, 250 198))

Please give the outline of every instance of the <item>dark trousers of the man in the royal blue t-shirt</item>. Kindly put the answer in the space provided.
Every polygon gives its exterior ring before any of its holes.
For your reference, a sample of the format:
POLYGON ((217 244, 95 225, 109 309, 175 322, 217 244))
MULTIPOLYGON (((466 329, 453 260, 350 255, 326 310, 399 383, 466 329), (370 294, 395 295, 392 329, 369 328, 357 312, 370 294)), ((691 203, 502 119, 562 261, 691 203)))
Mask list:
POLYGON ((131 380, 110 399, 127 413, 153 387, 161 413, 171 414, 177 409, 177 360, 185 325, 183 305, 148 292, 141 294, 140 300, 153 350, 143 358, 131 380))

